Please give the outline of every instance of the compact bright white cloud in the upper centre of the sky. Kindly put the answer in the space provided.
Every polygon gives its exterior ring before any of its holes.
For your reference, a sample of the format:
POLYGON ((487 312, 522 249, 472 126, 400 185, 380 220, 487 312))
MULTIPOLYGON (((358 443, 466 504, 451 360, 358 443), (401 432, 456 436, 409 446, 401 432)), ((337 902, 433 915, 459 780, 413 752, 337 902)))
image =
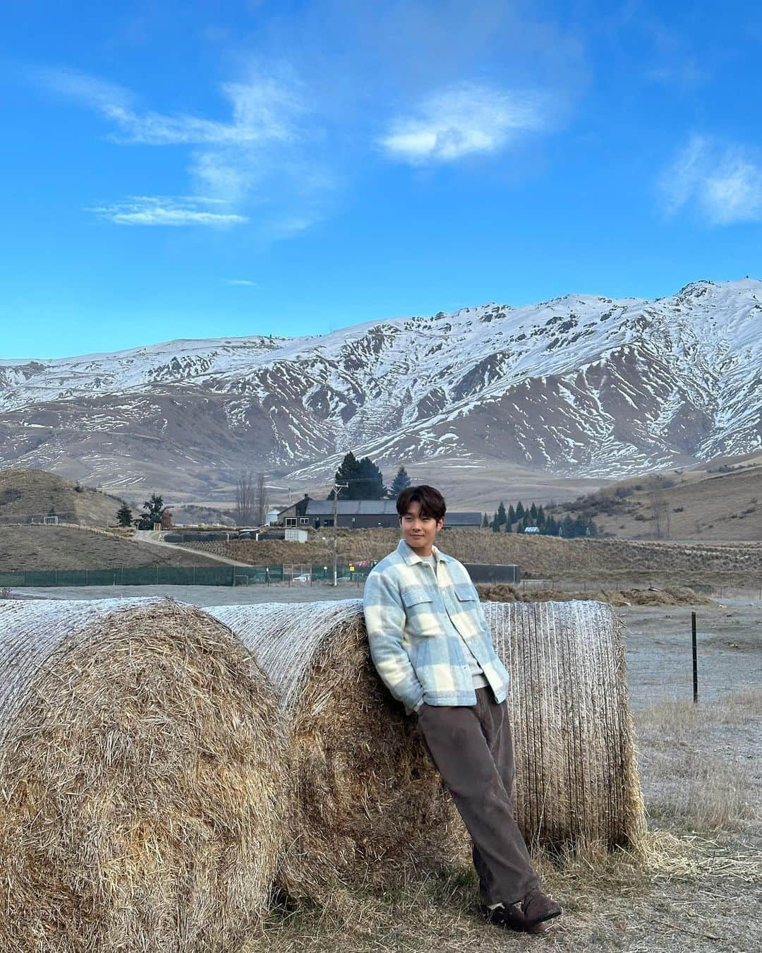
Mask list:
POLYGON ((391 123, 380 144, 412 165, 497 152, 545 125, 540 97, 467 83, 438 92, 413 116, 391 123))

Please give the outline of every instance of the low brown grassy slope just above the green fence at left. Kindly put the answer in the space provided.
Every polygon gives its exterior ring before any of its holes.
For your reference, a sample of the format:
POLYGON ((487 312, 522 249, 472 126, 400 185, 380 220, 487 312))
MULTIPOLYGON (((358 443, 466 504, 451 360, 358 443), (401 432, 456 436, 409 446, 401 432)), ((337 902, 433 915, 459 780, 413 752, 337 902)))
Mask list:
POLYGON ((219 566, 200 553, 68 526, 0 526, 0 570, 219 566))

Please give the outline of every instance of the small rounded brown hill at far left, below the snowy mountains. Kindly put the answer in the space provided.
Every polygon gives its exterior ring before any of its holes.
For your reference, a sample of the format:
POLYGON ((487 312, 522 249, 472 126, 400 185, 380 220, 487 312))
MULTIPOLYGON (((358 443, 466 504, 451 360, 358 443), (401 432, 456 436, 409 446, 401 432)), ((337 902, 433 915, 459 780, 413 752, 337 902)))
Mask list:
POLYGON ((29 522, 50 509, 65 522, 115 526, 122 501, 44 470, 0 470, 0 523, 29 522))

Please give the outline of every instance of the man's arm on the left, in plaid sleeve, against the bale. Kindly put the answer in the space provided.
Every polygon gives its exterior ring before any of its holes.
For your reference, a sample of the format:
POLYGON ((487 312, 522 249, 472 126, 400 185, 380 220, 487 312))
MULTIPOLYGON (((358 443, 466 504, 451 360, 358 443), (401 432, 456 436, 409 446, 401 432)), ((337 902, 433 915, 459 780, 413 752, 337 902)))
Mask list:
POLYGON ((405 608, 398 588, 381 573, 366 580, 363 611, 376 671, 394 698, 414 710, 424 691, 402 644, 405 608))

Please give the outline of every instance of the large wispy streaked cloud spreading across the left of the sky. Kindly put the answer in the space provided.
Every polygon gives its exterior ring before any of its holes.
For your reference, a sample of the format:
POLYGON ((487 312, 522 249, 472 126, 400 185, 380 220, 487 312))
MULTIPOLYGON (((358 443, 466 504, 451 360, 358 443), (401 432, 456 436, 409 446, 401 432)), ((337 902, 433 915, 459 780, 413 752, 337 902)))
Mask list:
POLYGON ((320 216, 327 177, 315 175, 314 119, 288 70, 251 71, 245 81, 224 84, 225 122, 141 109, 131 91, 82 72, 37 71, 35 78, 104 117, 110 139, 120 145, 189 147, 187 172, 198 194, 129 197, 90 210, 116 224, 240 225, 250 221, 247 207, 255 204, 267 206, 257 221, 288 235, 298 231, 290 224, 294 218, 313 222, 320 216), (227 208, 210 209, 211 200, 227 208))

